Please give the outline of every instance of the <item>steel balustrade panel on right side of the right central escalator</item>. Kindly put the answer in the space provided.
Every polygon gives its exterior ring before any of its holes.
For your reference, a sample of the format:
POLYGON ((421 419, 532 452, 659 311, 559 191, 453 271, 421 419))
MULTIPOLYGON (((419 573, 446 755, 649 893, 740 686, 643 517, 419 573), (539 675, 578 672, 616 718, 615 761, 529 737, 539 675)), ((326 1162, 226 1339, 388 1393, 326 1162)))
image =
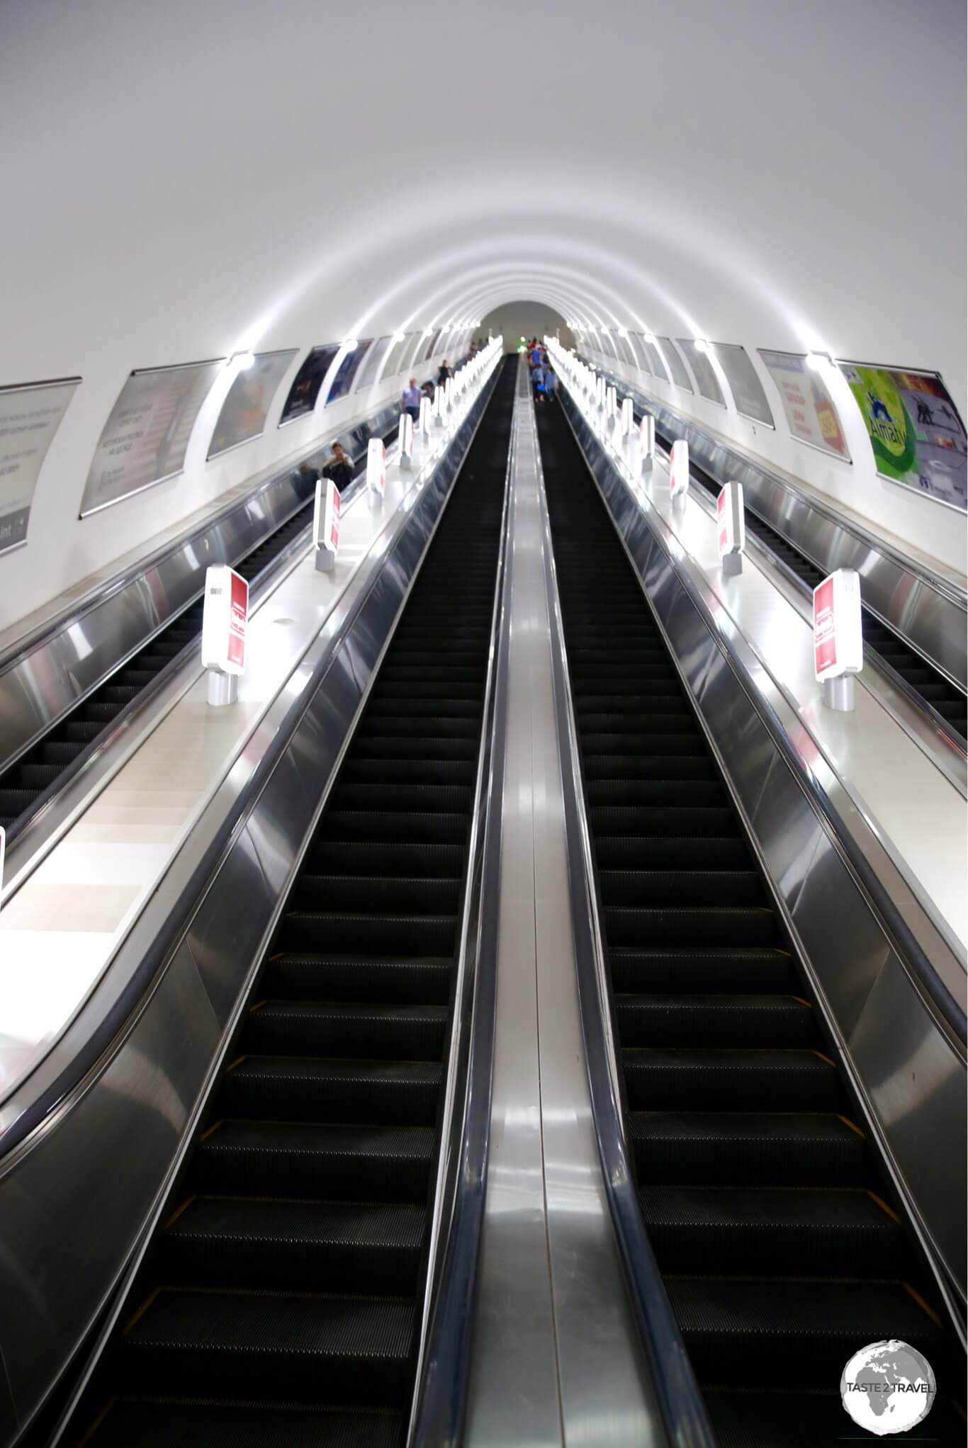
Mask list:
MULTIPOLYGON (((793 711, 777 715, 772 725, 765 721, 751 692, 758 665, 745 640, 733 630, 727 644, 717 633, 714 598, 698 573, 678 556, 681 549, 655 513, 632 497, 572 400, 565 394, 562 403, 746 818, 777 904, 801 944, 820 1009, 840 1043, 874 1140, 916 1229, 964 1296, 964 1043, 901 959, 813 798, 820 792, 820 762, 793 711), (696 618, 706 634, 701 644, 696 618), (700 654, 707 657, 704 669, 700 654), (781 749, 780 730, 787 733, 788 752, 781 749), (800 760, 798 770, 791 757, 800 760)), ((852 825, 858 834, 858 821, 852 825)), ((897 898, 904 885, 878 841, 871 838, 867 846, 867 857, 880 866, 894 904, 914 914, 917 901, 897 898)), ((945 943, 932 937, 929 927, 925 934, 935 940, 930 960, 939 977, 964 1011, 964 964, 945 953, 945 943)))

